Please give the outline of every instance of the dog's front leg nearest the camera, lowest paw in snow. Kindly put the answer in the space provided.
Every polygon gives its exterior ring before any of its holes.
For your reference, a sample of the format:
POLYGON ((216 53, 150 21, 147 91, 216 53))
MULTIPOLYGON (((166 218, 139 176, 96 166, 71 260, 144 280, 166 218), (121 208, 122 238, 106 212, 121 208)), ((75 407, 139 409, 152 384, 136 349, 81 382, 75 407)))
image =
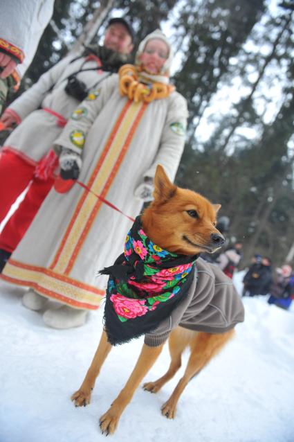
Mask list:
POLYGON ((151 366, 160 355, 162 349, 163 344, 156 347, 143 345, 136 366, 132 371, 127 384, 125 384, 125 387, 120 391, 116 400, 113 401, 109 410, 100 417, 100 428, 102 433, 106 432, 106 434, 109 434, 115 432, 122 412, 125 407, 127 407, 141 380, 143 380, 149 369, 151 369, 151 366))

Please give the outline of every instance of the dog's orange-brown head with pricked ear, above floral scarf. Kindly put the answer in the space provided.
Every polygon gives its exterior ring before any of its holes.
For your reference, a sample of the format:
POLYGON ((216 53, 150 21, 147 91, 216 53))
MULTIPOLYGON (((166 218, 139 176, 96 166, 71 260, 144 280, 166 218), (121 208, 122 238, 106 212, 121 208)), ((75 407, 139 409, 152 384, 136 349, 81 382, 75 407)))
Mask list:
POLYGON ((154 177, 154 202, 143 212, 143 229, 156 245, 177 254, 213 253, 225 242, 216 229, 220 204, 179 188, 162 166, 154 177))

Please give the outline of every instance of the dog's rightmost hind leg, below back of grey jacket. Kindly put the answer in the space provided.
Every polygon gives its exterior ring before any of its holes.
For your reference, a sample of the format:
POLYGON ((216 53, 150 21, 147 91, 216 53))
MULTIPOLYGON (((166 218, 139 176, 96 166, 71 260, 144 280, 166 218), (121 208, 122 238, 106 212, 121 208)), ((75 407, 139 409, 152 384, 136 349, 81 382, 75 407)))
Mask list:
POLYGON ((221 348, 234 334, 234 330, 229 330, 222 334, 197 333, 195 339, 190 343, 191 355, 183 378, 179 380, 169 400, 161 407, 161 412, 164 416, 169 419, 174 418, 176 415, 176 404, 187 383, 210 362, 214 355, 221 351, 221 348))

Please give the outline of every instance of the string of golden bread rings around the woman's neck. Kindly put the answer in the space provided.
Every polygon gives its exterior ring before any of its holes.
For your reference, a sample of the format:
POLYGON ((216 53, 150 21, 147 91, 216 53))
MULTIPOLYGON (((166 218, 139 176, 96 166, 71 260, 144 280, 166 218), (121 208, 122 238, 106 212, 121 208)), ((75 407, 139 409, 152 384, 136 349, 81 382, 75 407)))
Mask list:
POLYGON ((166 98, 176 89, 173 85, 164 85, 158 82, 150 85, 140 83, 136 67, 133 64, 124 64, 118 71, 118 75, 120 78, 120 95, 127 96, 129 100, 134 100, 135 103, 139 101, 150 103, 153 100, 166 98))

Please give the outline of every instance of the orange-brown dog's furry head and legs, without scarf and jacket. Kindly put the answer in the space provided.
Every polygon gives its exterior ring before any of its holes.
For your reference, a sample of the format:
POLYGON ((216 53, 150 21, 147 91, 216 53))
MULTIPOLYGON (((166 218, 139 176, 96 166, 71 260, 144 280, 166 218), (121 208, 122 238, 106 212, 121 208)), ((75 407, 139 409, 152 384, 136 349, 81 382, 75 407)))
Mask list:
MULTIPOLYGON (((198 193, 174 186, 169 182, 161 166, 158 166, 156 170, 154 188, 154 202, 145 209, 141 220, 145 233, 156 245, 176 254, 190 256, 203 251, 212 253, 221 247, 224 239, 215 227, 217 211, 221 207, 219 204, 211 204, 198 193)), ((203 274, 205 272, 208 274, 206 270, 203 271, 203 274)), ((217 272, 220 272, 219 269, 217 272)), ((226 276, 222 277, 225 278, 224 282, 221 282, 223 287, 229 287, 229 285, 231 287, 231 282, 227 281, 226 276)), ((242 320, 239 319, 238 322, 242 320)), ((237 323, 237 321, 235 322, 237 323)), ((233 326, 228 330, 223 330, 223 333, 205 333, 191 330, 190 326, 187 328, 177 326, 171 331, 169 335, 171 362, 167 373, 156 382, 144 384, 144 389, 152 393, 163 387, 165 382, 170 380, 180 368, 181 354, 187 346, 190 346, 191 355, 185 374, 178 382, 172 396, 162 407, 162 414, 167 418, 174 418, 178 398, 190 379, 199 373, 234 335, 233 326)), ((138 362, 127 384, 113 401, 109 410, 100 418, 102 432, 109 434, 116 430, 120 415, 130 402, 141 380, 156 361, 162 348, 163 344, 143 345, 138 362)), ((84 382, 72 396, 76 406, 90 403, 95 379, 110 350, 111 344, 107 340, 107 333, 103 331, 100 344, 84 382)))

